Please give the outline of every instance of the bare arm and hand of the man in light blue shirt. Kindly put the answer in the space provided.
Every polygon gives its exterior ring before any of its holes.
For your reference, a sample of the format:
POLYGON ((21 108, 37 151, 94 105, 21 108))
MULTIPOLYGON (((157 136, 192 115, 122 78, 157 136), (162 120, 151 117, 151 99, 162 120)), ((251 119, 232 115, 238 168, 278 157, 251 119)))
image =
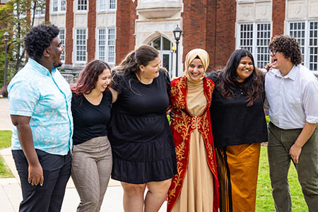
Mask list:
POLYGON ((35 152, 33 135, 29 125, 31 117, 11 115, 11 122, 16 126, 18 139, 23 148, 25 157, 29 164, 28 182, 32 185, 40 183, 42 186, 44 177, 42 166, 40 165, 37 153, 35 152))

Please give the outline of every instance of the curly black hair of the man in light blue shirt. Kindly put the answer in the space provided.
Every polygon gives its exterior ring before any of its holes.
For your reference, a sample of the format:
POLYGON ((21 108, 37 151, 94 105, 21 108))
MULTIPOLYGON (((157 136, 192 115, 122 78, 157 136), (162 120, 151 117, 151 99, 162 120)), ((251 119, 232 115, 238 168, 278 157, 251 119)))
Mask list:
POLYGON ((59 28, 55 25, 37 25, 25 35, 25 51, 29 57, 39 61, 44 50, 51 45, 52 40, 59 35, 59 28))

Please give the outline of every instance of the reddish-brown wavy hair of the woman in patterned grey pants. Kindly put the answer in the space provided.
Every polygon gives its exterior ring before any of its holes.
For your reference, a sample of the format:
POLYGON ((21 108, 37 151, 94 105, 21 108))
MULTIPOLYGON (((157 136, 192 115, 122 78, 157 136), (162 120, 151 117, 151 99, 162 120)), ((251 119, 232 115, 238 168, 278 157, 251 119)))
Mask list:
POLYGON ((75 88, 71 90, 73 93, 77 94, 89 94, 95 88, 96 82, 98 81, 98 76, 105 69, 110 69, 105 61, 95 59, 90 61, 89 64, 81 72, 78 82, 76 83, 75 88))

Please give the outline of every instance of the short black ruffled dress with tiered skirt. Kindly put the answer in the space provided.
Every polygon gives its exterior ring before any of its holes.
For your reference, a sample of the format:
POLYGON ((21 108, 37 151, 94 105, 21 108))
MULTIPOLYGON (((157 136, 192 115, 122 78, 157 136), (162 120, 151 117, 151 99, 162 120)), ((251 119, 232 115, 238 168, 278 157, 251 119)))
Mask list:
POLYGON ((108 126, 112 179, 143 184, 172 178, 177 159, 166 116, 170 90, 166 74, 160 71, 149 85, 134 74, 115 75, 112 80, 119 93, 108 126))

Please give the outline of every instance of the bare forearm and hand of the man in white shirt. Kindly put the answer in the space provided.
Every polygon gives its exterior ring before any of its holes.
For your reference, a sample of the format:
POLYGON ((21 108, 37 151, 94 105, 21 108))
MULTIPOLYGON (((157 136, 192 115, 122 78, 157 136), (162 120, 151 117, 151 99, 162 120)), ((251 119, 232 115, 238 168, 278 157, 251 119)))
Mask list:
POLYGON ((300 135, 296 139, 293 146, 291 146, 289 154, 290 157, 293 159, 294 163, 299 162, 299 156, 302 151, 302 146, 305 145, 305 143, 310 139, 310 136, 314 133, 314 129, 316 129, 316 124, 310 124, 308 122, 305 123, 304 128, 300 132, 300 135))

